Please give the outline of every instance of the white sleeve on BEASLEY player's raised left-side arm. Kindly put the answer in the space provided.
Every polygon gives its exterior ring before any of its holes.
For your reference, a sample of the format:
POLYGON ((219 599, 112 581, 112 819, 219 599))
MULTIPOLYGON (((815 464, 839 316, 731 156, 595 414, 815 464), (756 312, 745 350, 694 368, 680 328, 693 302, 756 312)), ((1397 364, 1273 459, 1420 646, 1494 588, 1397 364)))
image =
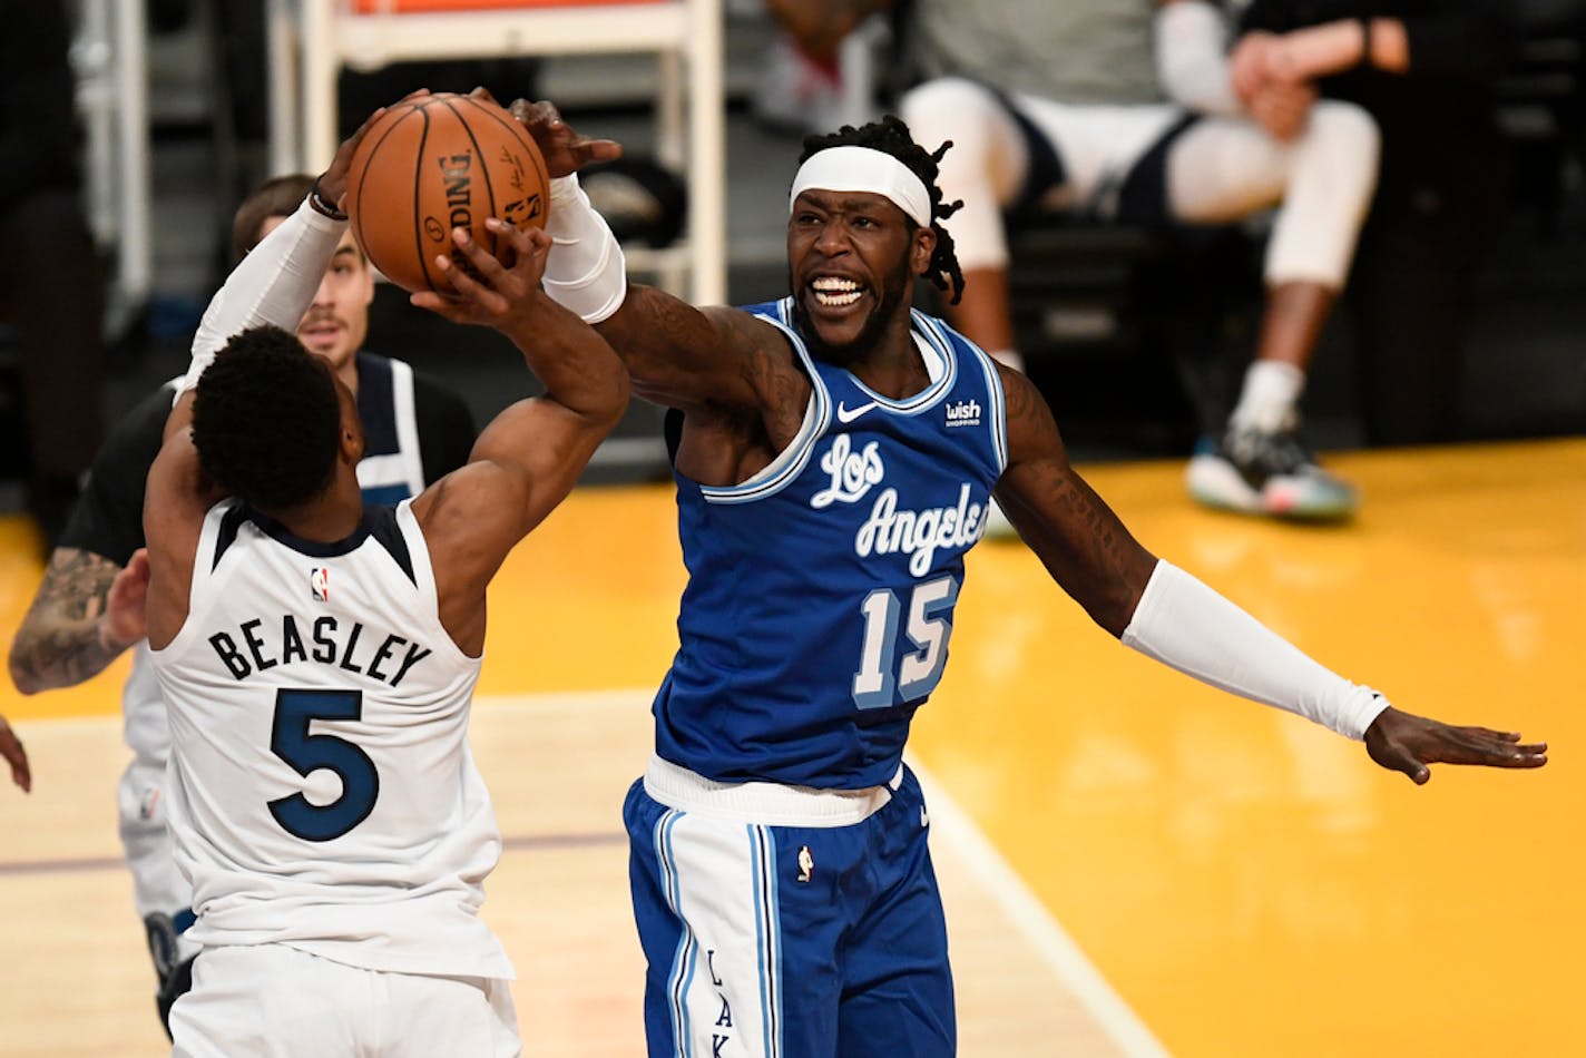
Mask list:
POLYGON ((176 397, 198 385, 198 376, 214 355, 249 327, 274 324, 295 332, 314 303, 314 292, 346 228, 346 220, 331 220, 305 201, 249 251, 209 298, 193 335, 192 363, 176 385, 176 397))

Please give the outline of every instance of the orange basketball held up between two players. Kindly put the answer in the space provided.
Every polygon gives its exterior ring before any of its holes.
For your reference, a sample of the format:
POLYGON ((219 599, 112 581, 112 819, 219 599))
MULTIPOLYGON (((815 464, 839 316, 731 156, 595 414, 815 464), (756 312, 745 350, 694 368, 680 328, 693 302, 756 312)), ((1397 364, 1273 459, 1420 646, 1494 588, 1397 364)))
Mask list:
POLYGON ((546 160, 501 106, 442 92, 392 106, 365 133, 347 173, 347 216, 358 246, 406 290, 452 293, 436 254, 460 266, 452 228, 488 252, 487 217, 517 228, 544 227, 546 160))

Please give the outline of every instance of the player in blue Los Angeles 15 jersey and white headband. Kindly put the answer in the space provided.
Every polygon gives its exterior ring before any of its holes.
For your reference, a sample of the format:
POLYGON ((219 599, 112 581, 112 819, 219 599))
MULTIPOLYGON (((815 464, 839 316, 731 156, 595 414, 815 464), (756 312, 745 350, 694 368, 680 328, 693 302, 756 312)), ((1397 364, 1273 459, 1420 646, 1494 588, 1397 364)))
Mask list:
MULTIPOLYGON (((1437 761, 1545 746, 1399 712, 1142 547, 1069 465, 1047 404, 910 309, 961 282, 936 162, 888 117, 806 141, 790 297, 691 308, 628 286, 571 176, 619 148, 514 103, 552 174, 546 290, 672 412, 690 579, 630 792, 650 1055, 950 1055, 947 933, 902 765, 942 676, 993 492, 1058 585, 1124 644, 1209 684, 1437 761)), ((944 146, 945 149, 945 146, 944 146)))

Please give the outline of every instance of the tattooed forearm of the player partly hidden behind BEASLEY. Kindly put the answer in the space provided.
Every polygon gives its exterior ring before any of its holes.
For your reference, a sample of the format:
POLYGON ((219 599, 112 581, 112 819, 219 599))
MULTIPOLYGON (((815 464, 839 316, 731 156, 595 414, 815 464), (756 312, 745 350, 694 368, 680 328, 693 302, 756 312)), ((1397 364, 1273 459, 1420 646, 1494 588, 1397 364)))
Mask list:
POLYGON ((44 582, 11 642, 11 679, 35 693, 97 676, 125 649, 108 650, 98 619, 121 566, 76 547, 57 547, 44 582))

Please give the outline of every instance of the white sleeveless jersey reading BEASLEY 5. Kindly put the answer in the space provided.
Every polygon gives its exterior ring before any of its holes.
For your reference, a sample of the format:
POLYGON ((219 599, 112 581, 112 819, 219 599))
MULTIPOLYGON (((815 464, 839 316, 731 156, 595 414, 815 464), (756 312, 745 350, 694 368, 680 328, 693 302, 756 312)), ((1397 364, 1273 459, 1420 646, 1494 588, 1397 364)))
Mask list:
POLYGON ((477 917, 501 853, 468 750, 479 660, 441 627, 408 501, 338 544, 217 504, 187 622, 152 657, 195 941, 512 977, 477 917))

